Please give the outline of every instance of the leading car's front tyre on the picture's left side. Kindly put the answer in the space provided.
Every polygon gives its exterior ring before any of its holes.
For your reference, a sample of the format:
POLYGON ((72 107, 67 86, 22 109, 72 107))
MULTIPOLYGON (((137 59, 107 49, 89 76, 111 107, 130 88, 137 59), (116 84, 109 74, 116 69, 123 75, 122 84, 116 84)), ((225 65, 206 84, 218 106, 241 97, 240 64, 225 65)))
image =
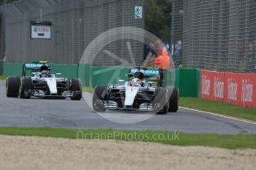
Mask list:
POLYGON ((95 112, 105 112, 105 107, 99 101, 104 101, 107 98, 108 86, 96 86, 93 92, 93 110, 95 112), (98 102, 97 102, 98 101, 98 102))

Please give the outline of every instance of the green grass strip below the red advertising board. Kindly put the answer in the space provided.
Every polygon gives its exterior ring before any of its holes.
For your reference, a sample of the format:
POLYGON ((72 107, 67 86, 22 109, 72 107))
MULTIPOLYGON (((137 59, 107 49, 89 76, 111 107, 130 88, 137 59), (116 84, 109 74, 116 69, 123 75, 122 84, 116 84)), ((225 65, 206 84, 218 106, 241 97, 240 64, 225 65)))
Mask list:
POLYGON ((199 109, 207 112, 220 113, 223 115, 230 115, 236 118, 256 120, 256 109, 234 106, 219 101, 209 101, 200 98, 180 98, 180 106, 191 109, 199 109))

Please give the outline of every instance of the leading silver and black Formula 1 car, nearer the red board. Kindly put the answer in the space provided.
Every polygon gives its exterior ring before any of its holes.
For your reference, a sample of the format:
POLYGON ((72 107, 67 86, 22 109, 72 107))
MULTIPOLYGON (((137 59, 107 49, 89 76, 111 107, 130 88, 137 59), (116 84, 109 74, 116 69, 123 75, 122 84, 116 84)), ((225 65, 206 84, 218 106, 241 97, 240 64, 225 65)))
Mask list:
POLYGON ((93 93, 93 109, 105 112, 106 109, 137 110, 166 114, 177 112, 179 108, 179 90, 174 86, 162 87, 163 70, 145 69, 141 67, 130 69, 128 81, 124 85, 96 86, 93 93), (148 79, 156 78, 154 81, 148 79))

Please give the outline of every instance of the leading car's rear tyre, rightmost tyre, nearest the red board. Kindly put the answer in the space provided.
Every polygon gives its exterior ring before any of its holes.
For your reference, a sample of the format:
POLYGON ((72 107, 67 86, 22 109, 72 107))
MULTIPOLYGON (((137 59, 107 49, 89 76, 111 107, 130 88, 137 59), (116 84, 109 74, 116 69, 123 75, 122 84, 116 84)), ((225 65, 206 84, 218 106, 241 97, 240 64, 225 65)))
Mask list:
POLYGON ((179 89, 174 86, 168 86, 168 93, 169 93, 169 110, 168 112, 177 112, 179 109, 179 89))

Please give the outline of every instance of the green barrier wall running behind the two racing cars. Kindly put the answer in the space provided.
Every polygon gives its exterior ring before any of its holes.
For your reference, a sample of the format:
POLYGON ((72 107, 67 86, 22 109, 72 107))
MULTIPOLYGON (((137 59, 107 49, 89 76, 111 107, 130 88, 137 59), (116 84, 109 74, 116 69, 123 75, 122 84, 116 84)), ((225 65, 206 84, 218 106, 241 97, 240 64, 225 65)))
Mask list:
MULTIPOLYGON (((17 75, 22 77, 20 63, 2 64, 3 75, 17 75)), ((83 86, 117 84, 119 79, 127 80, 127 67, 92 67, 89 64, 52 64, 52 72, 62 73, 66 78, 81 78, 83 86)), ((1 70, 1 66, 0 66, 1 70)), ((176 69, 176 72, 167 72, 166 85, 171 82, 180 89, 180 96, 197 98, 200 95, 200 69, 176 69), (175 75, 175 79, 174 79, 175 75)), ((28 72, 27 75, 29 75, 28 72)))

